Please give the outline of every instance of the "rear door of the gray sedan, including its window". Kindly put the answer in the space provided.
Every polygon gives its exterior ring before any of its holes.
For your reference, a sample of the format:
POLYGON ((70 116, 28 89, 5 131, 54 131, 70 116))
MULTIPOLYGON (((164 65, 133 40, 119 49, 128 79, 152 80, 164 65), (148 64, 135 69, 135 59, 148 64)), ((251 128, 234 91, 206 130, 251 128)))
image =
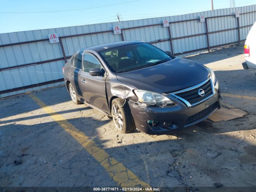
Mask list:
POLYGON ((82 72, 82 58, 83 58, 83 52, 77 53, 74 56, 72 72, 70 74, 70 77, 73 79, 73 82, 71 83, 74 86, 76 93, 79 96, 83 95, 80 87, 80 73, 82 72))

